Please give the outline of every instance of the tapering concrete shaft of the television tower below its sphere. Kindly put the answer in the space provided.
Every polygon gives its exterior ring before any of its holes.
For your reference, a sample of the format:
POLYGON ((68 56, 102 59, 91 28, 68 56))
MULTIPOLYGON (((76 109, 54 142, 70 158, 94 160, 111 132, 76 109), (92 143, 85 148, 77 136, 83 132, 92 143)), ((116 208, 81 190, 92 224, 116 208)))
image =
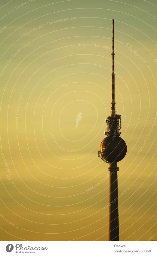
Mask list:
POLYGON ((109 241, 119 241, 117 162, 109 163, 109 241))

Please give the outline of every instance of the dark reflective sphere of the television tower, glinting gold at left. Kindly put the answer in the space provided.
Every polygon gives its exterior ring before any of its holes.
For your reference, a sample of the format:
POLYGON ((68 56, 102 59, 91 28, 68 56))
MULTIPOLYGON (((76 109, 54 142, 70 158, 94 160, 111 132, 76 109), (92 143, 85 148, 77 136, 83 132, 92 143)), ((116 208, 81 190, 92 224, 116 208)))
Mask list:
POLYGON ((127 153, 127 145, 119 136, 107 136, 100 144, 100 153, 107 162, 119 162, 127 153))

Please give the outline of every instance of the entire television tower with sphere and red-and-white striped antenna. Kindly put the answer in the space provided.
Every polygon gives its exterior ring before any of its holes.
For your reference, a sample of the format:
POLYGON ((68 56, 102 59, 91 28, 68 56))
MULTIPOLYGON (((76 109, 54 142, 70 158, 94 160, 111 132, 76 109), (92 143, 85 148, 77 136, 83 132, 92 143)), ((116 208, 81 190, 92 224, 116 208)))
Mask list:
POLYGON ((119 137, 122 128, 121 115, 115 114, 115 73, 114 73, 114 19, 112 19, 112 102, 111 115, 106 117, 107 137, 100 144, 98 156, 109 164, 109 241, 119 241, 118 215, 118 181, 117 162, 121 161, 127 152, 125 141, 119 137))

